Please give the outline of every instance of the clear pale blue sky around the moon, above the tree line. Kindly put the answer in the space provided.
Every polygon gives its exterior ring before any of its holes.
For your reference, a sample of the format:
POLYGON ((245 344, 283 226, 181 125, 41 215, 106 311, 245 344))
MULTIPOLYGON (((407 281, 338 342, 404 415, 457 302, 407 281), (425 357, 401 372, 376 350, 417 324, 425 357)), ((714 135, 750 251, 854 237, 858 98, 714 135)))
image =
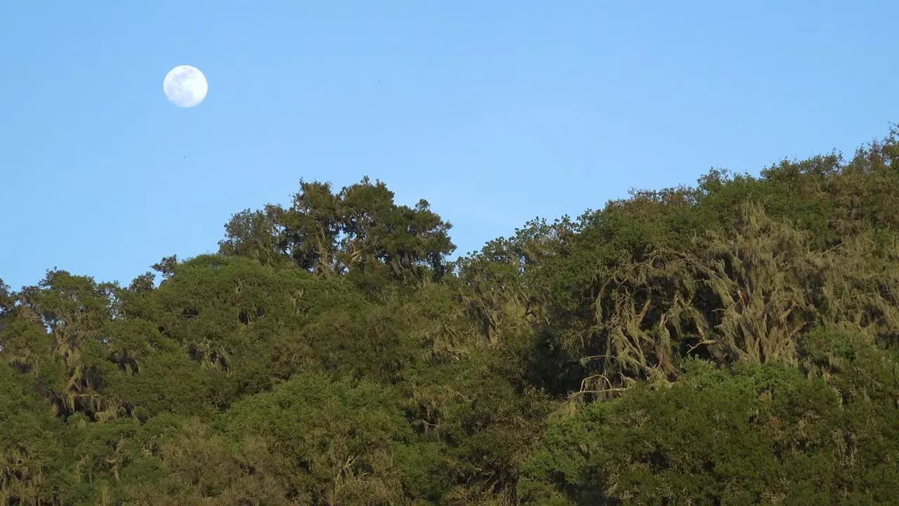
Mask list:
POLYGON ((458 252, 899 121, 899 2, 0 2, 0 278, 122 284, 298 180, 380 179, 458 252), (209 80, 165 100, 178 65, 209 80))

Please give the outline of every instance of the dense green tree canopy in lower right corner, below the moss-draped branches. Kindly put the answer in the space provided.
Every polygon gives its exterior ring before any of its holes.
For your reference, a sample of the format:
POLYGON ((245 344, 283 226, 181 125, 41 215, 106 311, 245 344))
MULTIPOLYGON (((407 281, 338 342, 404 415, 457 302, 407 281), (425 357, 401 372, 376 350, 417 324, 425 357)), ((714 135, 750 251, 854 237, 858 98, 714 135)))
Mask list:
MULTIPOLYGON (((785 366, 730 371, 690 359, 683 369, 669 387, 635 387, 553 420, 521 496, 535 504, 892 501, 892 402, 844 401, 852 387, 841 388, 842 378, 785 366)), ((887 380, 894 395, 897 379, 887 380)))

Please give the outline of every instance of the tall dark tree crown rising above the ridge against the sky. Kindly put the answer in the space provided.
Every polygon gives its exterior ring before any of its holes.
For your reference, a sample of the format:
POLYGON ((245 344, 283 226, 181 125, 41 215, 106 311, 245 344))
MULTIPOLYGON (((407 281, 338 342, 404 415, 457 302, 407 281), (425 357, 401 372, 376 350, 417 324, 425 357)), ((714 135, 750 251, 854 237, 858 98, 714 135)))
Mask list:
POLYGON ((410 283, 446 274, 445 257, 456 248, 449 228, 427 201, 396 205, 387 185, 368 177, 337 194, 328 183, 300 181, 288 209, 235 214, 219 252, 264 265, 290 259, 316 276, 378 273, 410 283))

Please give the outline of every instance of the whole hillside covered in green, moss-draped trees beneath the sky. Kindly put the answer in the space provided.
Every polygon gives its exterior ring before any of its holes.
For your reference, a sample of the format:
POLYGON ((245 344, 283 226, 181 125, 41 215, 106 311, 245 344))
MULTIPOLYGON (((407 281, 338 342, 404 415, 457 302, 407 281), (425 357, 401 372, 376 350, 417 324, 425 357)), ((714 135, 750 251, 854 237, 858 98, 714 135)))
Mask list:
POLYGON ((899 503, 899 131, 454 248, 301 182, 0 283, 0 504, 899 503))

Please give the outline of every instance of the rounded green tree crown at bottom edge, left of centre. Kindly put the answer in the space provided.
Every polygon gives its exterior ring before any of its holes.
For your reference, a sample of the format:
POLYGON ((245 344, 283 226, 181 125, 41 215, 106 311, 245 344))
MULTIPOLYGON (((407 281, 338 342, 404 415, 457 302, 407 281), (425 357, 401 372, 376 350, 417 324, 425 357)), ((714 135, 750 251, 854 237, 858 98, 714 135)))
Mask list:
POLYGON ((402 499, 393 447, 412 429, 390 389, 317 374, 298 375, 235 404, 221 420, 236 440, 258 440, 307 503, 390 504, 402 499))

